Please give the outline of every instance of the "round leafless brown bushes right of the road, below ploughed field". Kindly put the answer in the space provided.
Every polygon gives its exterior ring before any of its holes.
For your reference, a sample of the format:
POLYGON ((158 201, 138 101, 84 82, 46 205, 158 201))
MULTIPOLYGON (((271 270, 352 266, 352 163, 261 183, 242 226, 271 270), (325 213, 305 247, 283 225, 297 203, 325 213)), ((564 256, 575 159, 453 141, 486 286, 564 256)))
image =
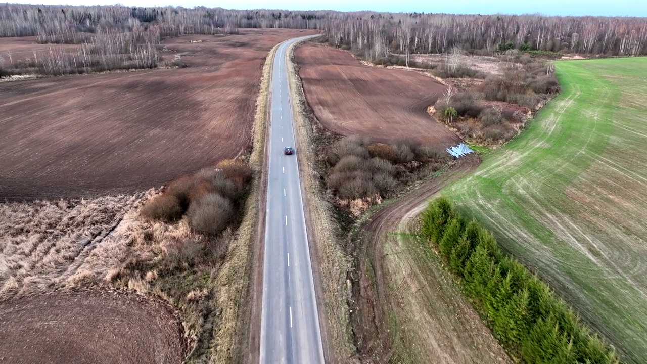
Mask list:
POLYGON ((374 143, 363 137, 348 137, 334 142, 327 152, 331 166, 326 178, 328 188, 342 199, 386 198, 398 187, 397 165, 411 161, 446 160, 446 152, 432 144, 420 145, 410 139, 389 144, 374 143))

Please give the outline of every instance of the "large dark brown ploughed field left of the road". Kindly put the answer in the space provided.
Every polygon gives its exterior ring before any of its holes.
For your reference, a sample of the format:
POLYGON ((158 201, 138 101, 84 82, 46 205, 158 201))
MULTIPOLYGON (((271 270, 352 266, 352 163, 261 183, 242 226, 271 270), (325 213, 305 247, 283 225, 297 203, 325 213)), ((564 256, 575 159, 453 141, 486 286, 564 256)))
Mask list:
POLYGON ((182 36, 164 58, 186 68, 0 83, 0 200, 130 193, 245 152, 267 53, 306 34, 182 36))

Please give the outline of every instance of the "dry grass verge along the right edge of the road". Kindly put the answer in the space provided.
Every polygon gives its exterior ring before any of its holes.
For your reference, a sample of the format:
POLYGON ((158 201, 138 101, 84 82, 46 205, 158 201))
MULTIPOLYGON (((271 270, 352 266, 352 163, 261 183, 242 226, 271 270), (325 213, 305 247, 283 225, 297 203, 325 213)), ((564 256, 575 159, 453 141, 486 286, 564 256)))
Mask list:
MULTIPOLYGON (((316 165, 314 150, 313 130, 302 108, 305 102, 303 87, 298 77, 294 63, 294 49, 301 42, 294 43, 287 50, 289 87, 294 113, 294 126, 296 132, 296 148, 300 152, 299 168, 305 189, 305 210, 308 225, 308 238, 314 244, 314 256, 317 262, 313 270, 318 275, 321 286, 318 290, 323 297, 326 321, 321 322, 322 337, 327 338, 327 350, 332 352, 327 355, 328 361, 349 363, 356 362, 356 348, 353 345, 349 315, 349 288, 346 271, 349 258, 345 256, 340 242, 338 224, 333 218, 333 207, 323 198, 323 188, 320 185, 320 176, 316 165), (316 222, 316 223, 312 223, 316 222)), ((317 277, 315 277, 315 280, 317 277)), ((321 306, 320 306, 321 309, 321 306)), ((324 346, 326 343, 324 343, 324 346)))

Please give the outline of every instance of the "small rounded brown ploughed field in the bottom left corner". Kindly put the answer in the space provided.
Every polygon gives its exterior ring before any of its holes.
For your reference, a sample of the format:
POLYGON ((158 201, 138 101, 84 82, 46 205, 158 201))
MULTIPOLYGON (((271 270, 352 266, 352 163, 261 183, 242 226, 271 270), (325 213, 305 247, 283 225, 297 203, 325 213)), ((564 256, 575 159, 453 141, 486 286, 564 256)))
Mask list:
POLYGON ((0 301, 0 361, 182 363, 182 328, 168 305, 111 291, 0 301))

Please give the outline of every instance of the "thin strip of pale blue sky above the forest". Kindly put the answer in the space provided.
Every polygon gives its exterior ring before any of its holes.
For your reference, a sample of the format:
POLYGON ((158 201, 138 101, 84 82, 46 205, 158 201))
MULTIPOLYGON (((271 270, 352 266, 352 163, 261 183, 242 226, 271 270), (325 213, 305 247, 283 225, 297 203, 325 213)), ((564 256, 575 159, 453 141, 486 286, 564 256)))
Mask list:
MULTIPOLYGON (((544 14, 557 16, 644 16, 645 0, 118 0, 126 6, 193 6, 234 9, 373 10, 378 12, 424 12, 451 14, 544 14)), ((10 2, 23 3, 14 0, 10 2)), ((109 0, 28 1, 44 5, 108 5, 109 0)))

